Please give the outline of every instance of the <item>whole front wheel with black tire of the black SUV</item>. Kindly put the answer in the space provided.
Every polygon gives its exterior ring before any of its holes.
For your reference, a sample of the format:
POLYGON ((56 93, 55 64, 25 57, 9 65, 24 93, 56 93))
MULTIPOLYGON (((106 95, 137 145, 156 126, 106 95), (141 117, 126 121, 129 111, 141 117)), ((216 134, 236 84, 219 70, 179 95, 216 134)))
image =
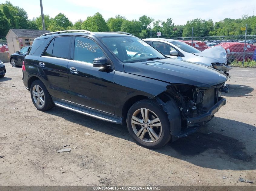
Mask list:
POLYGON ((135 141, 147 148, 160 148, 171 138, 167 113, 154 100, 134 103, 127 113, 128 131, 135 141))

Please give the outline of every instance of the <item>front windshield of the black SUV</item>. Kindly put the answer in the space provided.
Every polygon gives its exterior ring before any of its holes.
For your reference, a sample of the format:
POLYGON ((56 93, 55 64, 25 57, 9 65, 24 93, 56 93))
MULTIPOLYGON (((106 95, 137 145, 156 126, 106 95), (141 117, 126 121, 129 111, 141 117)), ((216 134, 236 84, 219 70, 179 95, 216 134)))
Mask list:
POLYGON ((165 56, 137 37, 101 37, 103 43, 124 63, 165 59, 165 56))

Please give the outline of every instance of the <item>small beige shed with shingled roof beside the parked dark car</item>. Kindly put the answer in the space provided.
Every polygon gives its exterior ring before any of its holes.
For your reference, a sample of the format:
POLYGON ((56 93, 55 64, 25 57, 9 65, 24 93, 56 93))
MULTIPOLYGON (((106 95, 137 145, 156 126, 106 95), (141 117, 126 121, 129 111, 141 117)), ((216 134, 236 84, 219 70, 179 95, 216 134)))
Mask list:
POLYGON ((9 55, 32 45, 35 38, 49 32, 49 30, 10 29, 6 35, 9 55))

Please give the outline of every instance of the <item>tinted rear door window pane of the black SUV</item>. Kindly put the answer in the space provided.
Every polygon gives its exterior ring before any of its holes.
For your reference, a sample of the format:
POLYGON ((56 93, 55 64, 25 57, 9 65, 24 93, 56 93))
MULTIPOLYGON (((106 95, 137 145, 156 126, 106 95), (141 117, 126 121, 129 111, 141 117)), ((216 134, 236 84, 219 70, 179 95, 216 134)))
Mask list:
POLYGON ((54 39, 52 57, 68 59, 71 37, 56 37, 54 39))

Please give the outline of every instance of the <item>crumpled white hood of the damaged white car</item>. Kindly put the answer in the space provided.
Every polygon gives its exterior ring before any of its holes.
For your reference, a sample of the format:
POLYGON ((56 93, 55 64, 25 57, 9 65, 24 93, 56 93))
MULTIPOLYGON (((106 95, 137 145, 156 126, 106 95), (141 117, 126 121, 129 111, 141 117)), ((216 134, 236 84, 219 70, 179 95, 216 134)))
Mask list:
MULTIPOLYGON (((227 62, 227 53, 221 46, 213 46, 212 48, 205 49, 201 53, 193 53, 196 56, 213 59, 214 62, 223 64, 227 62)), ((212 62, 211 62, 212 63, 212 62)))

